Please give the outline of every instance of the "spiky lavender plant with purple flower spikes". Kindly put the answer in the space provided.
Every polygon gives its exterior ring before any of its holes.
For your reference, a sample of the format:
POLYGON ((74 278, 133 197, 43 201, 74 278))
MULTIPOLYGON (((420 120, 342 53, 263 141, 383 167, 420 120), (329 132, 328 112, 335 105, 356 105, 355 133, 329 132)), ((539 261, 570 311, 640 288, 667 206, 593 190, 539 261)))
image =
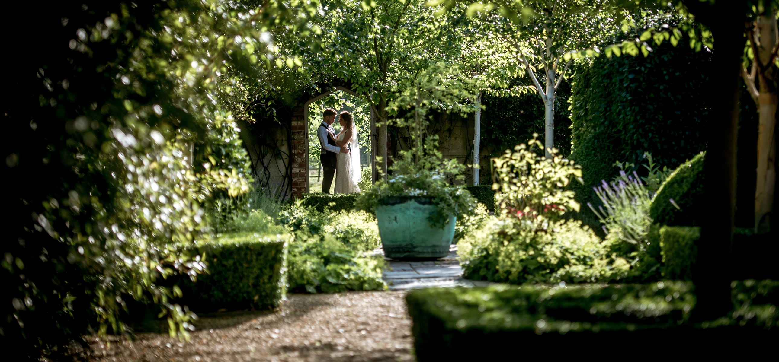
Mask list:
POLYGON ((603 206, 597 209, 587 202, 587 206, 603 223, 603 228, 612 237, 636 245, 640 251, 647 247, 647 234, 652 223, 649 215, 651 199, 646 185, 633 171, 626 174, 620 171, 611 183, 602 181, 594 188, 603 206))

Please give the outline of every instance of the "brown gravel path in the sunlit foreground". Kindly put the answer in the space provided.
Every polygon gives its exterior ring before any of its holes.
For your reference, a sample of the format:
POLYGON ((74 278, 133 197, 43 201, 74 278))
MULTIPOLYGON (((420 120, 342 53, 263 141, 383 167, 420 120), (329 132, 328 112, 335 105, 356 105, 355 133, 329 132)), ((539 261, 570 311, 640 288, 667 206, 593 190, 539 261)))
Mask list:
POLYGON ((404 291, 291 294, 281 311, 201 315, 189 343, 167 334, 97 339, 92 361, 405 361, 411 319, 404 291))

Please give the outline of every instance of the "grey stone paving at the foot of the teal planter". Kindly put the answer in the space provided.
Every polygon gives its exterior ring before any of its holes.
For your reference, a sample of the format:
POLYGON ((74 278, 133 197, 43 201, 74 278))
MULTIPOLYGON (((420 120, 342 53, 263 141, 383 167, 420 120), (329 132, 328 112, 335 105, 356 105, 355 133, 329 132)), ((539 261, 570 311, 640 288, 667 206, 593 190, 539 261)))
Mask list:
MULTIPOLYGON (((376 254, 384 255, 382 248, 376 254)), ((449 255, 434 261, 408 262, 387 258, 388 268, 383 279, 390 290, 411 290, 431 286, 481 286, 482 283, 463 279, 463 268, 457 261, 457 245, 449 247, 449 255)), ((485 283, 486 284, 486 283, 485 283)))

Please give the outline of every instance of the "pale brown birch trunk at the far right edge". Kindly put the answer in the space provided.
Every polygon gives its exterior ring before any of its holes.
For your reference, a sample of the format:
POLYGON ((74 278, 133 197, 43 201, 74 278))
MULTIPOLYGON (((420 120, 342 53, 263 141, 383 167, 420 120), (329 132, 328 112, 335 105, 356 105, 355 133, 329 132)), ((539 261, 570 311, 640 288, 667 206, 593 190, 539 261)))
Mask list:
POLYGON ((770 16, 759 16, 756 21, 760 32, 760 44, 754 62, 767 65, 767 69, 757 72, 760 79, 760 93, 757 107, 760 113, 760 125, 757 131, 757 183, 755 187, 755 231, 764 233, 770 230, 773 215, 774 192, 776 188, 776 134, 777 90, 771 86, 776 81, 777 69, 773 65, 771 51, 777 45, 777 20, 774 11, 770 16))

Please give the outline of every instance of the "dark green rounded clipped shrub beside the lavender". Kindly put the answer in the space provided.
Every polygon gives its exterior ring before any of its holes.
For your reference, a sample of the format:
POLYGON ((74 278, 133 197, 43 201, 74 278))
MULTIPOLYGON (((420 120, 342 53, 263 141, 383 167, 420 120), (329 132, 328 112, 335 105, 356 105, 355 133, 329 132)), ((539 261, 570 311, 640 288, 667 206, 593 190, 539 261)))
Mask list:
POLYGON ((669 226, 698 227, 703 223, 703 163, 700 153, 682 163, 665 179, 652 199, 650 217, 654 223, 669 226))

